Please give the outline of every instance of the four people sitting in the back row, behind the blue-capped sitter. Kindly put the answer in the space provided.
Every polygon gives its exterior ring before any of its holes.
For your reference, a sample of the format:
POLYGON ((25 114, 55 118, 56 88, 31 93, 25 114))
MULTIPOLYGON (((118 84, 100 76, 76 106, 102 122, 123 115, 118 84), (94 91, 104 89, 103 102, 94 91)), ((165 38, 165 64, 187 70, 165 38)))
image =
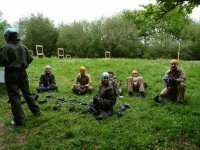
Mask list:
MULTIPOLYGON (((86 68, 81 66, 79 68, 80 73, 76 76, 74 84, 72 86, 72 92, 77 95, 83 95, 92 91, 92 80, 90 74, 86 72, 86 68)), ((122 84, 113 71, 107 72, 109 75, 109 83, 113 86, 116 96, 122 98, 122 84)), ((144 79, 138 75, 136 70, 132 71, 132 76, 127 78, 126 87, 128 90, 128 96, 132 97, 133 92, 140 92, 141 98, 145 97, 145 83, 144 79)), ((44 69, 44 74, 40 76, 38 92, 54 91, 58 90, 56 86, 55 75, 52 73, 51 66, 47 65, 44 69)))

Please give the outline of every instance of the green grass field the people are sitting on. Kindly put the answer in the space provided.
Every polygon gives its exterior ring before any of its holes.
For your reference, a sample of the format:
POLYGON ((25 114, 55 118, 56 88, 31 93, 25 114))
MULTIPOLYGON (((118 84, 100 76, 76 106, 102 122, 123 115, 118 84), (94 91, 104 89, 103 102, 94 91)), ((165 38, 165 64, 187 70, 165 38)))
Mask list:
MULTIPOLYGON (((35 58, 27 70, 32 92, 36 92, 47 64, 53 68, 59 90, 52 93, 54 99, 40 105, 43 111, 40 117, 34 117, 25 104, 26 125, 14 127, 10 124, 12 113, 7 95, 0 99, 0 149, 200 149, 199 61, 180 62, 187 77, 184 106, 153 101, 164 86, 162 76, 169 60, 35 58), (82 65, 91 74, 94 90, 85 96, 75 96, 71 87, 82 65), (144 100, 139 96, 127 97, 124 85, 133 69, 149 85, 144 100), (117 100, 112 117, 96 121, 92 114, 81 114, 84 107, 79 104, 75 112, 69 112, 69 101, 58 111, 52 109, 62 96, 67 100, 75 97, 91 101, 98 91, 100 74, 108 70, 113 70, 122 81, 124 91, 124 98, 117 100), (117 106, 125 102, 131 107, 118 118, 117 106)), ((47 94, 40 94, 39 100, 47 94)))

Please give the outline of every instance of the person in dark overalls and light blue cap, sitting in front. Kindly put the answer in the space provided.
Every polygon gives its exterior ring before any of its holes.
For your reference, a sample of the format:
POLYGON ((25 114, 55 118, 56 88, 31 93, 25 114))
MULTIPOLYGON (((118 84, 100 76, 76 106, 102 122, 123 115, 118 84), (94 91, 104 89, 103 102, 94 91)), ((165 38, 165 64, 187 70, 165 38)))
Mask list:
POLYGON ((102 120, 113 114, 113 107, 116 103, 116 95, 113 86, 109 82, 108 72, 101 74, 101 84, 98 93, 93 97, 93 102, 83 113, 95 112, 96 119, 102 120))

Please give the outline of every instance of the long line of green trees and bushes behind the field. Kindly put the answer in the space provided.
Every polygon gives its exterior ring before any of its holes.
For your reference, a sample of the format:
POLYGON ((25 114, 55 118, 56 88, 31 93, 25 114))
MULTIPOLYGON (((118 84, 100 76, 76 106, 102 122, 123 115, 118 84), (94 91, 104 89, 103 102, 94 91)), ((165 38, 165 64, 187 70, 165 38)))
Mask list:
MULTIPOLYGON (((42 14, 21 18, 15 25, 23 44, 35 53, 35 45, 43 45, 46 56, 57 55, 64 48, 72 57, 101 58, 105 51, 115 58, 180 58, 200 60, 200 23, 177 7, 165 15, 155 12, 158 5, 143 10, 124 10, 110 18, 92 22, 60 24, 42 14), (180 47, 179 47, 180 46, 180 47)), ((1 33, 9 25, 1 19, 1 33)), ((4 40, 0 38, 0 46, 4 40)))

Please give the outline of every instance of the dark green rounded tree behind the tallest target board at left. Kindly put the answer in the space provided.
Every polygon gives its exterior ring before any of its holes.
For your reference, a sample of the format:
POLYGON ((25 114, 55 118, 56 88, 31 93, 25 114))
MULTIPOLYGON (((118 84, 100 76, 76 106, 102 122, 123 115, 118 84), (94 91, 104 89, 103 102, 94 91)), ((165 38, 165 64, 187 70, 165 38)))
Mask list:
POLYGON ((20 18, 17 23, 22 42, 31 50, 35 45, 43 45, 45 56, 57 53, 56 41, 58 32, 53 22, 42 14, 31 14, 29 18, 20 18))

